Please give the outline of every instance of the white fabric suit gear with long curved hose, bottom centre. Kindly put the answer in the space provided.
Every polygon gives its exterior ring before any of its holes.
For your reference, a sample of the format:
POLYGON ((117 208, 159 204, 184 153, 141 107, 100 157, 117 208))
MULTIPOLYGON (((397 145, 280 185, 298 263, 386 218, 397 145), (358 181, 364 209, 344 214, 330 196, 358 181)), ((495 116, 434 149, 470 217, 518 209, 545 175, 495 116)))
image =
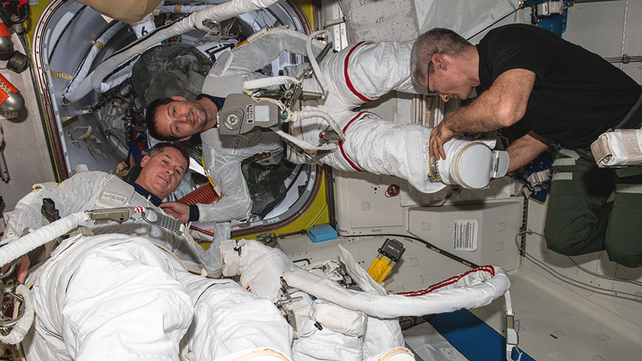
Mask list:
POLYGON ((243 287, 280 304, 295 329, 295 361, 414 360, 403 350, 397 317, 481 307, 510 287, 504 270, 482 266, 426 290, 387 295, 342 245, 347 276, 337 261, 302 269, 282 251, 255 240, 225 240, 220 250, 224 275, 240 275, 243 287), (359 290, 346 284, 349 279, 359 290))

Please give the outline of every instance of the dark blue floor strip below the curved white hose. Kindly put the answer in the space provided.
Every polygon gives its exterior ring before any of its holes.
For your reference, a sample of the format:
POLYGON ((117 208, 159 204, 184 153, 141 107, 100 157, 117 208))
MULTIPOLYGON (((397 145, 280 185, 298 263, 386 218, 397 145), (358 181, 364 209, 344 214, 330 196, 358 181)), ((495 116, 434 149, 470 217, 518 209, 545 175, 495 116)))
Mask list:
MULTIPOLYGON (((435 315, 430 323, 470 361, 506 360, 506 338, 469 310, 441 313, 435 315)), ((513 350, 513 360, 518 356, 513 350)), ((523 354, 521 361, 534 360, 523 354)))

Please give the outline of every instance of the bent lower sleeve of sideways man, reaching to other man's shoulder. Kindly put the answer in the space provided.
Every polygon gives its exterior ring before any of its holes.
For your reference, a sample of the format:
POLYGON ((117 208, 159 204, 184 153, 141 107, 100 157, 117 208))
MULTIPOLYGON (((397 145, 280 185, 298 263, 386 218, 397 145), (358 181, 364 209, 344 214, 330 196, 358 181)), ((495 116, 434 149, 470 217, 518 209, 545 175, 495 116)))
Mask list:
POLYGON ((250 191, 241 171, 242 158, 214 151, 203 145, 206 166, 214 184, 218 185, 223 197, 213 204, 198 204, 200 222, 228 222, 245 220, 250 216, 252 200, 250 191), (209 151, 209 152, 208 152, 209 151))

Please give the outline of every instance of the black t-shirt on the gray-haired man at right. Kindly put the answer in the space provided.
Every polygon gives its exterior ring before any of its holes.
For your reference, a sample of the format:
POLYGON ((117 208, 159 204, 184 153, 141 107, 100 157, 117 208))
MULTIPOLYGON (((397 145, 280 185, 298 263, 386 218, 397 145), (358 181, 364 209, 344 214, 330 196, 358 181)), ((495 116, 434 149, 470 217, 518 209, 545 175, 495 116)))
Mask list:
POLYGON ((626 116, 642 91, 601 56, 536 26, 493 29, 477 44, 477 51, 478 94, 514 68, 536 75, 524 117, 504 129, 511 140, 534 131, 561 146, 586 148, 626 116))

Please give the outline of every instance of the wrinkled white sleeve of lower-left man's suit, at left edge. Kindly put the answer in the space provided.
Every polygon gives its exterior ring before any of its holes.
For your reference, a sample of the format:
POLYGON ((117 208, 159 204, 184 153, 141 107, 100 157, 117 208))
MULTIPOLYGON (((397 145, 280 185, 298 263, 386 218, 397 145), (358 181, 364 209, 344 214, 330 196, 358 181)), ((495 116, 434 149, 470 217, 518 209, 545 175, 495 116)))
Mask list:
POLYGON ((78 173, 57 186, 42 186, 25 195, 9 218, 2 243, 21 236, 26 228, 42 226, 41 207, 44 198, 51 198, 61 218, 71 213, 88 210, 93 206, 98 191, 113 176, 103 172, 78 173))

